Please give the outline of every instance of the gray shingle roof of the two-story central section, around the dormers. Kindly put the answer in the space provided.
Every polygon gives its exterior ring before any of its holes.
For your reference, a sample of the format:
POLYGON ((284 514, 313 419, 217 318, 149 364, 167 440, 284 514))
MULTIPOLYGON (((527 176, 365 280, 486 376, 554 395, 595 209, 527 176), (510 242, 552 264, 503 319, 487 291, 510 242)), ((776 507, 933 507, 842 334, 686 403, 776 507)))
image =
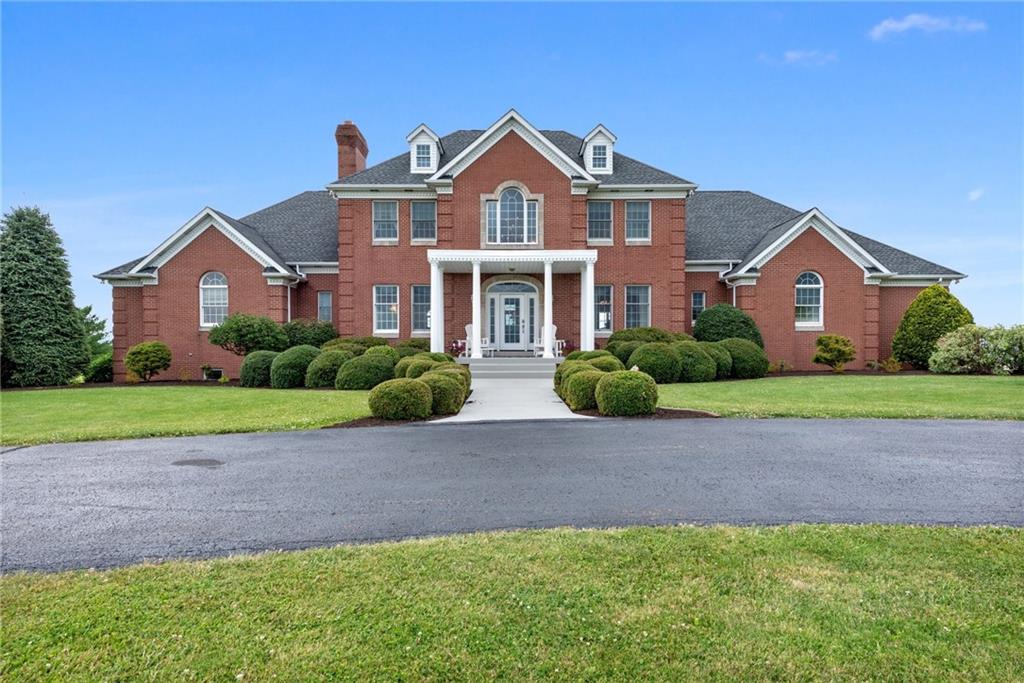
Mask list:
MULTIPOLYGON (((444 154, 441 155, 438 168, 458 157, 483 132, 482 130, 457 130, 441 137, 441 147, 443 147, 444 154)), ((541 134, 583 168, 584 160, 580 155, 580 147, 583 145, 582 137, 564 130, 542 130, 541 134)), ((692 184, 689 180, 648 166, 618 152, 615 153, 612 169, 613 173, 596 176, 597 179, 602 184, 692 184)), ((409 155, 402 154, 371 166, 365 171, 339 178, 336 182, 342 185, 420 185, 424 184, 428 177, 429 175, 425 173, 410 173, 409 155)))

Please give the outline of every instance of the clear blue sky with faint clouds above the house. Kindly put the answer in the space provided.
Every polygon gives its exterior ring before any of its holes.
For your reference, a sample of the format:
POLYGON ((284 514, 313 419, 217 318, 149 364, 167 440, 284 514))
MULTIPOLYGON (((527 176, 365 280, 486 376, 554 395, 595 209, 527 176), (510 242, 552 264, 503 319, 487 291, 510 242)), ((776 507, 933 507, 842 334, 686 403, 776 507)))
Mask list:
POLYGON ((597 122, 708 189, 817 206, 970 274, 1024 322, 1024 14, 1014 4, 3 3, 2 205, 36 204, 76 294, 203 206, 241 216, 420 122, 597 122))

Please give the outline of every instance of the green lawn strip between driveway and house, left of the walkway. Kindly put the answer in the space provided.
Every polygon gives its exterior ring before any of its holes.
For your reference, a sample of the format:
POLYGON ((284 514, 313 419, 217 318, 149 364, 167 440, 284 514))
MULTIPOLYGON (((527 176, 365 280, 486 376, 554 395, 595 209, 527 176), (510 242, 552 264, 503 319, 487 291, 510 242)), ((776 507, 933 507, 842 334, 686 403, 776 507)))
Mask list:
POLYGON ((311 429, 370 415, 366 391, 131 386, 0 393, 0 443, 311 429))

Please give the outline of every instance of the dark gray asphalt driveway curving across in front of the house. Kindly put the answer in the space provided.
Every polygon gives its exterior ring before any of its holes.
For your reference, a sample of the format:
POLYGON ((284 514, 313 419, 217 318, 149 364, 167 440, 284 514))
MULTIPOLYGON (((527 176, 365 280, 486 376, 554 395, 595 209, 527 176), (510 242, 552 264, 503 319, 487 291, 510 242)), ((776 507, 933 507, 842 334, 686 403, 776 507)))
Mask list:
POLYGON ((902 420, 413 425, 7 450, 0 569, 475 529, 1024 525, 1024 426, 902 420))

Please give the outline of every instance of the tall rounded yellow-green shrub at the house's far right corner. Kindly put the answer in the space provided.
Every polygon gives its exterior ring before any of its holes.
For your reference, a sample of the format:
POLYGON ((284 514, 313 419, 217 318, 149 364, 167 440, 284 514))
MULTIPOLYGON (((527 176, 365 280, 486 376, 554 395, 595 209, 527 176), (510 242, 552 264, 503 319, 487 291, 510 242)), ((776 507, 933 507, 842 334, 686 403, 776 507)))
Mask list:
POLYGON ((922 290, 903 313, 893 335, 893 355, 919 370, 927 370, 928 359, 942 335, 972 323, 974 316, 959 299, 945 287, 932 285, 922 290))

